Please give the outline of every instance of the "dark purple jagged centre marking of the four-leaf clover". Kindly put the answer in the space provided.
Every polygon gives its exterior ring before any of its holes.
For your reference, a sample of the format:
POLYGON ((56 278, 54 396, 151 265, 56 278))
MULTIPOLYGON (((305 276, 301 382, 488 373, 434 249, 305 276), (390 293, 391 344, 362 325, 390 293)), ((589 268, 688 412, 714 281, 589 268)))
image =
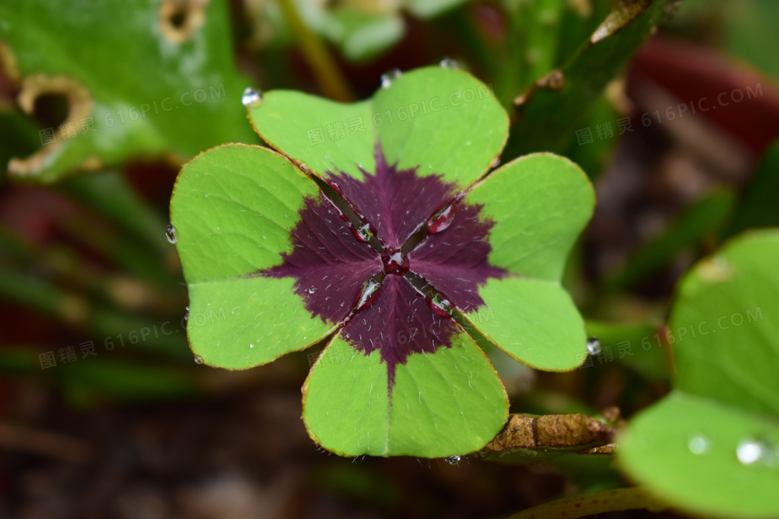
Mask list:
POLYGON ((362 225, 352 226, 323 194, 306 198, 283 263, 256 275, 294 278, 306 310, 340 323, 344 339, 365 355, 379 351, 391 388, 397 365, 412 353, 451 346, 459 328, 450 307, 478 309, 478 287, 507 272, 488 264, 494 223, 479 219, 480 205, 462 202, 438 174, 397 170, 378 146, 375 159, 375 172, 361 169, 361 179, 340 171, 328 179, 362 225), (368 230, 382 251, 368 244, 368 230), (425 237, 404 254, 418 231, 425 237), (426 297, 409 276, 439 296, 426 297))

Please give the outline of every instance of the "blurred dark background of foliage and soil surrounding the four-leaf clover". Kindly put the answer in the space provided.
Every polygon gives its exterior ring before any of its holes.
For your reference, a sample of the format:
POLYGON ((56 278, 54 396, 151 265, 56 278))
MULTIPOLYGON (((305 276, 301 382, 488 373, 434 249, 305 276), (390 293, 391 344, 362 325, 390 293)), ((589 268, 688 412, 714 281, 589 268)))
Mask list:
MULTIPOLYGON (((247 86, 358 100, 455 60, 512 117, 504 161, 561 153, 597 191, 565 282, 601 353, 542 373, 490 352, 511 410, 619 425, 668 391, 679 275, 779 225, 777 24, 774 0, 5 0, 0 517, 506 517, 625 485, 608 457, 318 449, 300 387, 321 345, 245 372, 193 362, 175 177, 260 143, 247 86)), ((628 515, 650 514, 600 517, 628 515)))

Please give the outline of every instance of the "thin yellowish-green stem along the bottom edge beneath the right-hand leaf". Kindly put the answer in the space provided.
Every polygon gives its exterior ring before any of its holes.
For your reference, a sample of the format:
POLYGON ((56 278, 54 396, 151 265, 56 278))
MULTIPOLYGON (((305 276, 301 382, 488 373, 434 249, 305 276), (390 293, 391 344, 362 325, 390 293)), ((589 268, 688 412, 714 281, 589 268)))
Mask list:
POLYGON ((657 511, 662 506, 640 486, 627 489, 601 490, 549 501, 538 507, 522 510, 506 519, 530 519, 531 517, 587 517, 588 515, 619 512, 622 510, 657 511))

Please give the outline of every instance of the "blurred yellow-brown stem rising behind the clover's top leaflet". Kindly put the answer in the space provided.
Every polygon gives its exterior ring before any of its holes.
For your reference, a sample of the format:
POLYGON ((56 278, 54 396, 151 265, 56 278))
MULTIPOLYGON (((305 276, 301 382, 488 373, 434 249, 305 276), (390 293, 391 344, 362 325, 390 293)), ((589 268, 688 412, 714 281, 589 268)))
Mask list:
POLYGON ((354 100, 351 89, 340 73, 340 68, 327 50, 325 42, 305 25, 298 15, 293 0, 279 0, 290 32, 298 40, 303 58, 308 62, 322 93, 337 101, 354 100))

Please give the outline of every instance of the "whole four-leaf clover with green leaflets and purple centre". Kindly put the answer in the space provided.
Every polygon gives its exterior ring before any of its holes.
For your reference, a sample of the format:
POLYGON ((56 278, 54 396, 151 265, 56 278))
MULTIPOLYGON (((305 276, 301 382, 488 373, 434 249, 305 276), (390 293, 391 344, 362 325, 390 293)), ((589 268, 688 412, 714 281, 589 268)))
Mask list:
POLYGON ((201 153, 171 199, 203 363, 245 369, 332 335, 303 387, 310 436, 343 455, 437 458, 477 451, 508 414, 464 325, 539 369, 583 362, 559 279, 592 188, 549 153, 491 172, 508 117, 487 86, 431 67, 359 103, 244 102, 276 151, 201 153))

